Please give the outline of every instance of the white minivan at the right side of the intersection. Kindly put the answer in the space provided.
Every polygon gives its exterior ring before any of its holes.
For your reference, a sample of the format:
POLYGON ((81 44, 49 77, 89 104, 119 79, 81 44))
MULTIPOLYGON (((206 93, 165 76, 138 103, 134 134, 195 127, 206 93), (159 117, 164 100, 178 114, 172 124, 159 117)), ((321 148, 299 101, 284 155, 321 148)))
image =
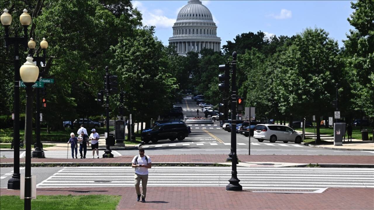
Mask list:
POLYGON ((301 143, 301 133, 283 125, 258 124, 254 129, 253 137, 259 142, 269 140, 270 142, 283 141, 301 143))

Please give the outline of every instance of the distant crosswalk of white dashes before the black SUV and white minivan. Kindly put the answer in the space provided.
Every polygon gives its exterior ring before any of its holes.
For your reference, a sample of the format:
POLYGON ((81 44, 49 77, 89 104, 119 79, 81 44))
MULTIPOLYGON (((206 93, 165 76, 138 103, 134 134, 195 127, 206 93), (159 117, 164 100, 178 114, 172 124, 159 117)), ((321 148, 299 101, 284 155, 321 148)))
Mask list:
MULTIPOLYGON (((247 145, 248 146, 248 143, 236 143, 237 145, 240 145, 240 146, 245 146, 247 145)), ((173 147, 173 146, 210 146, 210 145, 214 145, 214 146, 222 146, 222 145, 231 145, 231 143, 219 143, 219 142, 183 142, 183 143, 170 143, 170 144, 157 144, 157 145, 142 145, 142 148, 152 148, 152 147, 173 147)), ((255 146, 288 146, 288 147, 308 147, 308 146, 303 146, 303 145, 299 145, 299 144, 294 144, 294 143, 290 143, 290 144, 285 144, 285 143, 255 143, 255 142, 251 142, 251 145, 255 145, 255 146)))

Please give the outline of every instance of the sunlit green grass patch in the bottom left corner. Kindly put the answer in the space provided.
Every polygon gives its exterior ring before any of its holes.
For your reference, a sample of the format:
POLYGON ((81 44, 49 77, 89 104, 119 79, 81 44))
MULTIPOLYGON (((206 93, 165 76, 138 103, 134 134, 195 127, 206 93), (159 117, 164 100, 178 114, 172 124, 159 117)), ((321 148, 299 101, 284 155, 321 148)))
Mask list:
MULTIPOLYGON (((31 208, 37 210, 115 210, 119 195, 38 195, 31 200, 31 208)), ((24 200, 19 196, 0 196, 0 210, 24 209, 24 200)))

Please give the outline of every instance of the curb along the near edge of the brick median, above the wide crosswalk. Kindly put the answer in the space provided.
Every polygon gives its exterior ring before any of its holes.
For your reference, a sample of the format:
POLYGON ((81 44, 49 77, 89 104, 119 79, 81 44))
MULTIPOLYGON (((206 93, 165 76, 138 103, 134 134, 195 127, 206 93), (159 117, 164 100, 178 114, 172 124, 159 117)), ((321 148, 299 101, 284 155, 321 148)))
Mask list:
MULTIPOLYGON (((224 165, 220 163, 188 163, 188 162, 170 162, 170 163, 162 163, 162 162, 154 162, 154 165, 162 166, 223 166, 223 167, 230 167, 230 165, 224 165)), ((318 163, 309 163, 309 164, 301 164, 298 166, 284 166, 283 168, 289 167, 307 167, 308 165, 317 165, 318 163)), ((24 167, 25 163, 19 163, 20 167, 24 167)), ((31 163, 31 167, 77 167, 77 166, 131 166, 131 163, 31 163)), ((374 164, 336 164, 336 163, 322 163, 318 164, 319 167, 329 167, 329 168, 374 168, 374 164)), ((13 167, 13 163, 0 163, 0 167, 13 167)), ((239 166, 238 166, 239 167, 239 166)))

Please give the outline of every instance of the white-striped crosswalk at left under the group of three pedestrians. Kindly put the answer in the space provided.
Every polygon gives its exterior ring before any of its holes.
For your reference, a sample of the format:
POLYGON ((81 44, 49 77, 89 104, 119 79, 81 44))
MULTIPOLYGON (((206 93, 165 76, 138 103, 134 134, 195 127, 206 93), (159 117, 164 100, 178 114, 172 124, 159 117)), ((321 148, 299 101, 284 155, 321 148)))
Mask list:
MULTIPOLYGON (((100 158, 102 157, 103 154, 105 154, 104 150, 99 150, 99 157, 100 158)), ((114 150, 112 150, 112 154, 113 154, 114 157, 121 156, 121 154, 119 152, 114 151, 114 150)), ((69 159, 73 158, 73 157, 71 157, 71 149, 70 148, 68 150, 65 150, 65 151, 61 151, 61 150, 60 151, 44 151, 44 155, 45 155, 46 158, 69 158, 69 159)), ((19 155, 19 158, 25 158, 25 157, 26 157, 25 152, 22 152, 19 155)), ((80 158, 79 148, 78 148, 77 157, 80 158)), ((87 150, 86 159, 87 158, 93 158, 92 157, 92 150, 87 150)), ((95 151, 95 158, 97 158, 96 151, 95 151)))

